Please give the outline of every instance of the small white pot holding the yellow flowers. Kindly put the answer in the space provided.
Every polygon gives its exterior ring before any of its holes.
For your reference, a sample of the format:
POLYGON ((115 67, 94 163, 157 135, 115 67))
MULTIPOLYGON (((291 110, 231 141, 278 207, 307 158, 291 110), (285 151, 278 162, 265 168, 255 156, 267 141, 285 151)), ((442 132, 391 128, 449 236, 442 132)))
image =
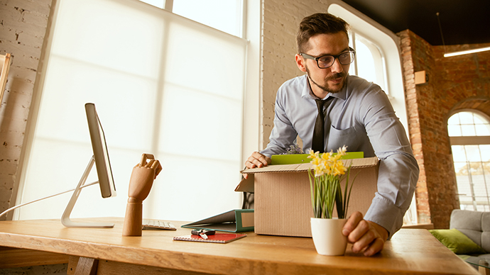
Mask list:
POLYGON ((311 218, 311 235, 318 254, 340 256, 345 254, 347 237, 342 235, 347 219, 311 218))

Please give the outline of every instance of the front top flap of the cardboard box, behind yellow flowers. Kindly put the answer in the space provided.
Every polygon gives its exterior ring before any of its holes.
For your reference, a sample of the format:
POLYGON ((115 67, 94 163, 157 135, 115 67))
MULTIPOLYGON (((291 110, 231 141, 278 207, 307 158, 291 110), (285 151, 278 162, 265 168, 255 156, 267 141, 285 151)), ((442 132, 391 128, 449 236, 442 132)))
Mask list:
MULTIPOLYGON (((345 166, 352 165, 352 168, 364 168, 376 166, 379 162, 377 157, 366 157, 364 159, 342 159, 345 166)), ((273 173, 273 172, 305 172, 312 169, 312 164, 283 164, 283 165, 268 165, 261 168, 245 169, 242 174, 256 173, 273 173)), ((243 181, 242 181, 243 182, 243 181)), ((240 183, 241 184, 241 183, 240 183)), ((237 187, 238 188, 238 187, 237 187)))

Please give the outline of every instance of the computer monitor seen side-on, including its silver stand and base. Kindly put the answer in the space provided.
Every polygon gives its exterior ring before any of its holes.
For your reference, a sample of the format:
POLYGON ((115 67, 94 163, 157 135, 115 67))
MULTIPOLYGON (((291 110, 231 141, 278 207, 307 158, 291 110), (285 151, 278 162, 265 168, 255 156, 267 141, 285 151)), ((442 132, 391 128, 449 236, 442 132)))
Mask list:
POLYGON ((99 116, 97 115, 95 104, 86 103, 85 113, 87 114, 87 123, 89 125, 90 140, 92 142, 92 151, 94 155, 90 158, 89 164, 87 165, 77 188, 73 192, 72 198, 70 199, 70 202, 62 215, 61 223, 67 228, 112 228, 114 227, 113 223, 81 223, 70 220, 70 213, 72 212, 73 206, 75 206, 77 198, 80 195, 80 191, 82 191, 83 187, 97 184, 98 182, 102 198, 116 196, 116 186, 114 185, 114 178, 112 177, 111 162, 109 161, 109 153, 107 151, 104 130, 102 129, 102 124, 100 123, 99 116), (94 163, 99 180, 92 184, 84 185, 94 163))

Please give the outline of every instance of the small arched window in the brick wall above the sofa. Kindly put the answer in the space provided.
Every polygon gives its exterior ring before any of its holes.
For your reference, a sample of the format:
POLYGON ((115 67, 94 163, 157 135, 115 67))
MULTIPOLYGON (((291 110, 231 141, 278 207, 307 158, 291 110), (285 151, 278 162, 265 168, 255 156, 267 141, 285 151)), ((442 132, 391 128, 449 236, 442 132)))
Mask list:
POLYGON ((447 120, 461 209, 490 211, 489 121, 477 111, 460 111, 447 120))

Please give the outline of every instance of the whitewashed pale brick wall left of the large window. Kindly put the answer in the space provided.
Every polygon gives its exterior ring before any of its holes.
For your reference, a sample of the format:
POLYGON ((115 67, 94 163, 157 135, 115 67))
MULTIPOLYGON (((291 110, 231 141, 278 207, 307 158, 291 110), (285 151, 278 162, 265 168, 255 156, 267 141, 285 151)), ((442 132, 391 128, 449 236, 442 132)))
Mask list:
MULTIPOLYGON (((0 212, 15 203, 19 157, 52 0, 0 0, 0 54, 12 55, 0 105, 0 212)), ((0 218, 5 220, 6 217, 0 218)))

